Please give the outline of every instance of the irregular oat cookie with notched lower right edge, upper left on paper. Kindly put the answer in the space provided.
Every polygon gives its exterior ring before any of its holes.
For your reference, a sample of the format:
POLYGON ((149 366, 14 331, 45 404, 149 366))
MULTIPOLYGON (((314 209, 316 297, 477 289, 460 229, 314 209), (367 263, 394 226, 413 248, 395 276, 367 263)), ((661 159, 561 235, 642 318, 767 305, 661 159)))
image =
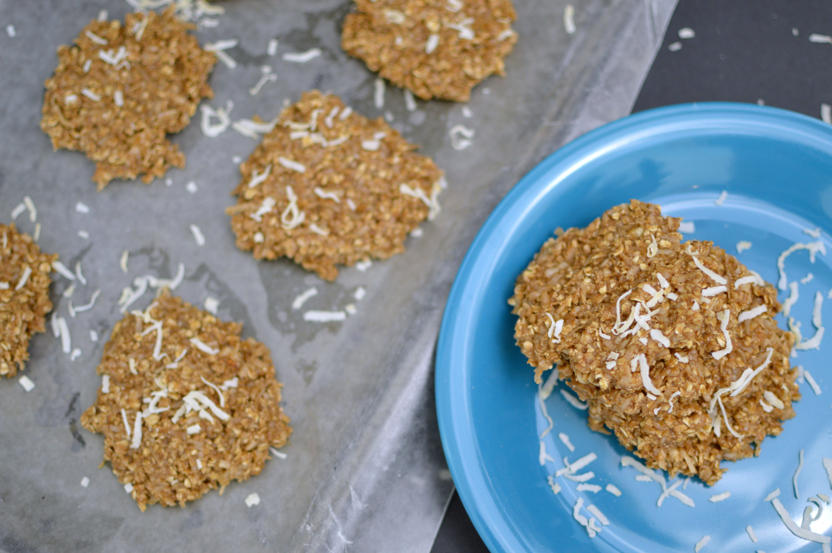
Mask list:
POLYGON ((129 13, 126 22, 92 21, 57 49, 47 79, 41 129, 52 146, 83 151, 96 162, 92 180, 102 190, 112 179, 150 183, 185 155, 166 139, 184 129, 203 97, 216 57, 188 34, 173 8, 162 15, 129 13))

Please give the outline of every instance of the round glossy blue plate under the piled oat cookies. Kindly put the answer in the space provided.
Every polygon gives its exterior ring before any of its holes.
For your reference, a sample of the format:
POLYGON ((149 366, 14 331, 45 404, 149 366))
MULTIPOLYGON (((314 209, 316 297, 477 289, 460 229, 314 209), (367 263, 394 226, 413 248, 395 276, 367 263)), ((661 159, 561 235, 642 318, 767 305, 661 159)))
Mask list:
MULTIPOLYGON (((498 551, 693 551, 711 536, 707 551, 820 551, 792 536, 762 499, 780 487, 780 500, 800 524, 809 496, 832 495, 821 464, 832 457, 832 379, 828 352, 800 352, 792 363, 814 375, 824 393, 801 384, 797 417, 780 437, 767 438, 760 457, 724 462, 726 476, 713 488, 689 482, 690 508, 674 498, 656 507, 656 483, 635 481, 622 468, 626 452, 614 438, 589 431, 586 412, 565 402, 556 388, 547 400, 555 427, 545 438, 556 459, 538 462, 538 435, 546 427, 536 401, 532 368, 513 340, 516 318, 506 300, 514 280, 552 236, 556 227, 584 226, 612 205, 631 198, 662 205, 666 215, 696 224, 688 238, 711 239, 736 254, 739 240, 753 243, 740 261, 770 282, 775 261, 795 242, 814 240, 804 229, 823 230, 829 256, 810 264, 805 251, 786 262, 789 281, 814 274, 800 285, 792 310, 804 334, 814 333, 812 300, 832 288, 832 126, 789 111, 739 104, 698 104, 646 111, 592 131, 544 160, 494 210, 453 285, 439 338, 436 393, 439 428, 448 466, 468 514, 489 549, 498 551), (722 190, 723 205, 715 205, 722 190), (565 432, 576 447, 557 439, 565 432), (791 479, 798 451, 805 450, 800 499, 791 479), (587 467, 591 483, 612 482, 621 497, 607 491, 575 491, 576 483, 557 478, 557 496, 547 476, 596 452, 587 467), (708 497, 730 491, 726 501, 708 497), (578 496, 598 506, 611 524, 590 540, 572 518, 578 496), (745 526, 752 525, 759 543, 745 526)), ((785 293, 780 293, 780 300, 785 293)), ((829 300, 823 314, 832 325, 829 300)), ((779 316, 781 326, 785 327, 779 316)), ((582 511, 584 516, 587 511, 582 511)), ((830 533, 832 508, 811 529, 830 533)))

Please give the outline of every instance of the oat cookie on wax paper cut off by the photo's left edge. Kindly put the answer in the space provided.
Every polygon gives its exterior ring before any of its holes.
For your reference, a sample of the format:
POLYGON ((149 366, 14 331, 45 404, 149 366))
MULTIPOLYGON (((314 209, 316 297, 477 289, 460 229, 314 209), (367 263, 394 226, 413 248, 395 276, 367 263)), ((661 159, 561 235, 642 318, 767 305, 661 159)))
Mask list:
POLYGON ((12 378, 29 358, 29 338, 52 311, 49 284, 57 254, 43 254, 14 223, 0 225, 0 377, 12 378))

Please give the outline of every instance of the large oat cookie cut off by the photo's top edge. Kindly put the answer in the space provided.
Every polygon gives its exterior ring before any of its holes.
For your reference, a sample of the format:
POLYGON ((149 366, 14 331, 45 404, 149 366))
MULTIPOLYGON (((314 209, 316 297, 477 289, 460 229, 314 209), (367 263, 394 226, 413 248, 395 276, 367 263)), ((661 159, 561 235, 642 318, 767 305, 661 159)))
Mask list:
POLYGON ((424 100, 468 101, 518 36, 510 0, 355 0, 341 47, 424 100))

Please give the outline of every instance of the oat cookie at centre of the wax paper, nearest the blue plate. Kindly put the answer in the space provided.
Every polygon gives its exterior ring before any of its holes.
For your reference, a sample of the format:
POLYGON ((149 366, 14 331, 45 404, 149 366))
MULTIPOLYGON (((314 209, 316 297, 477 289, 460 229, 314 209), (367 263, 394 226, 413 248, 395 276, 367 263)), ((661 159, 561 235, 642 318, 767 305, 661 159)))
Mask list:
POLYGON ((387 259, 438 213, 443 174, 381 118, 337 96, 305 92, 240 165, 237 205, 226 210, 237 247, 281 255, 322 279, 335 264, 387 259))

